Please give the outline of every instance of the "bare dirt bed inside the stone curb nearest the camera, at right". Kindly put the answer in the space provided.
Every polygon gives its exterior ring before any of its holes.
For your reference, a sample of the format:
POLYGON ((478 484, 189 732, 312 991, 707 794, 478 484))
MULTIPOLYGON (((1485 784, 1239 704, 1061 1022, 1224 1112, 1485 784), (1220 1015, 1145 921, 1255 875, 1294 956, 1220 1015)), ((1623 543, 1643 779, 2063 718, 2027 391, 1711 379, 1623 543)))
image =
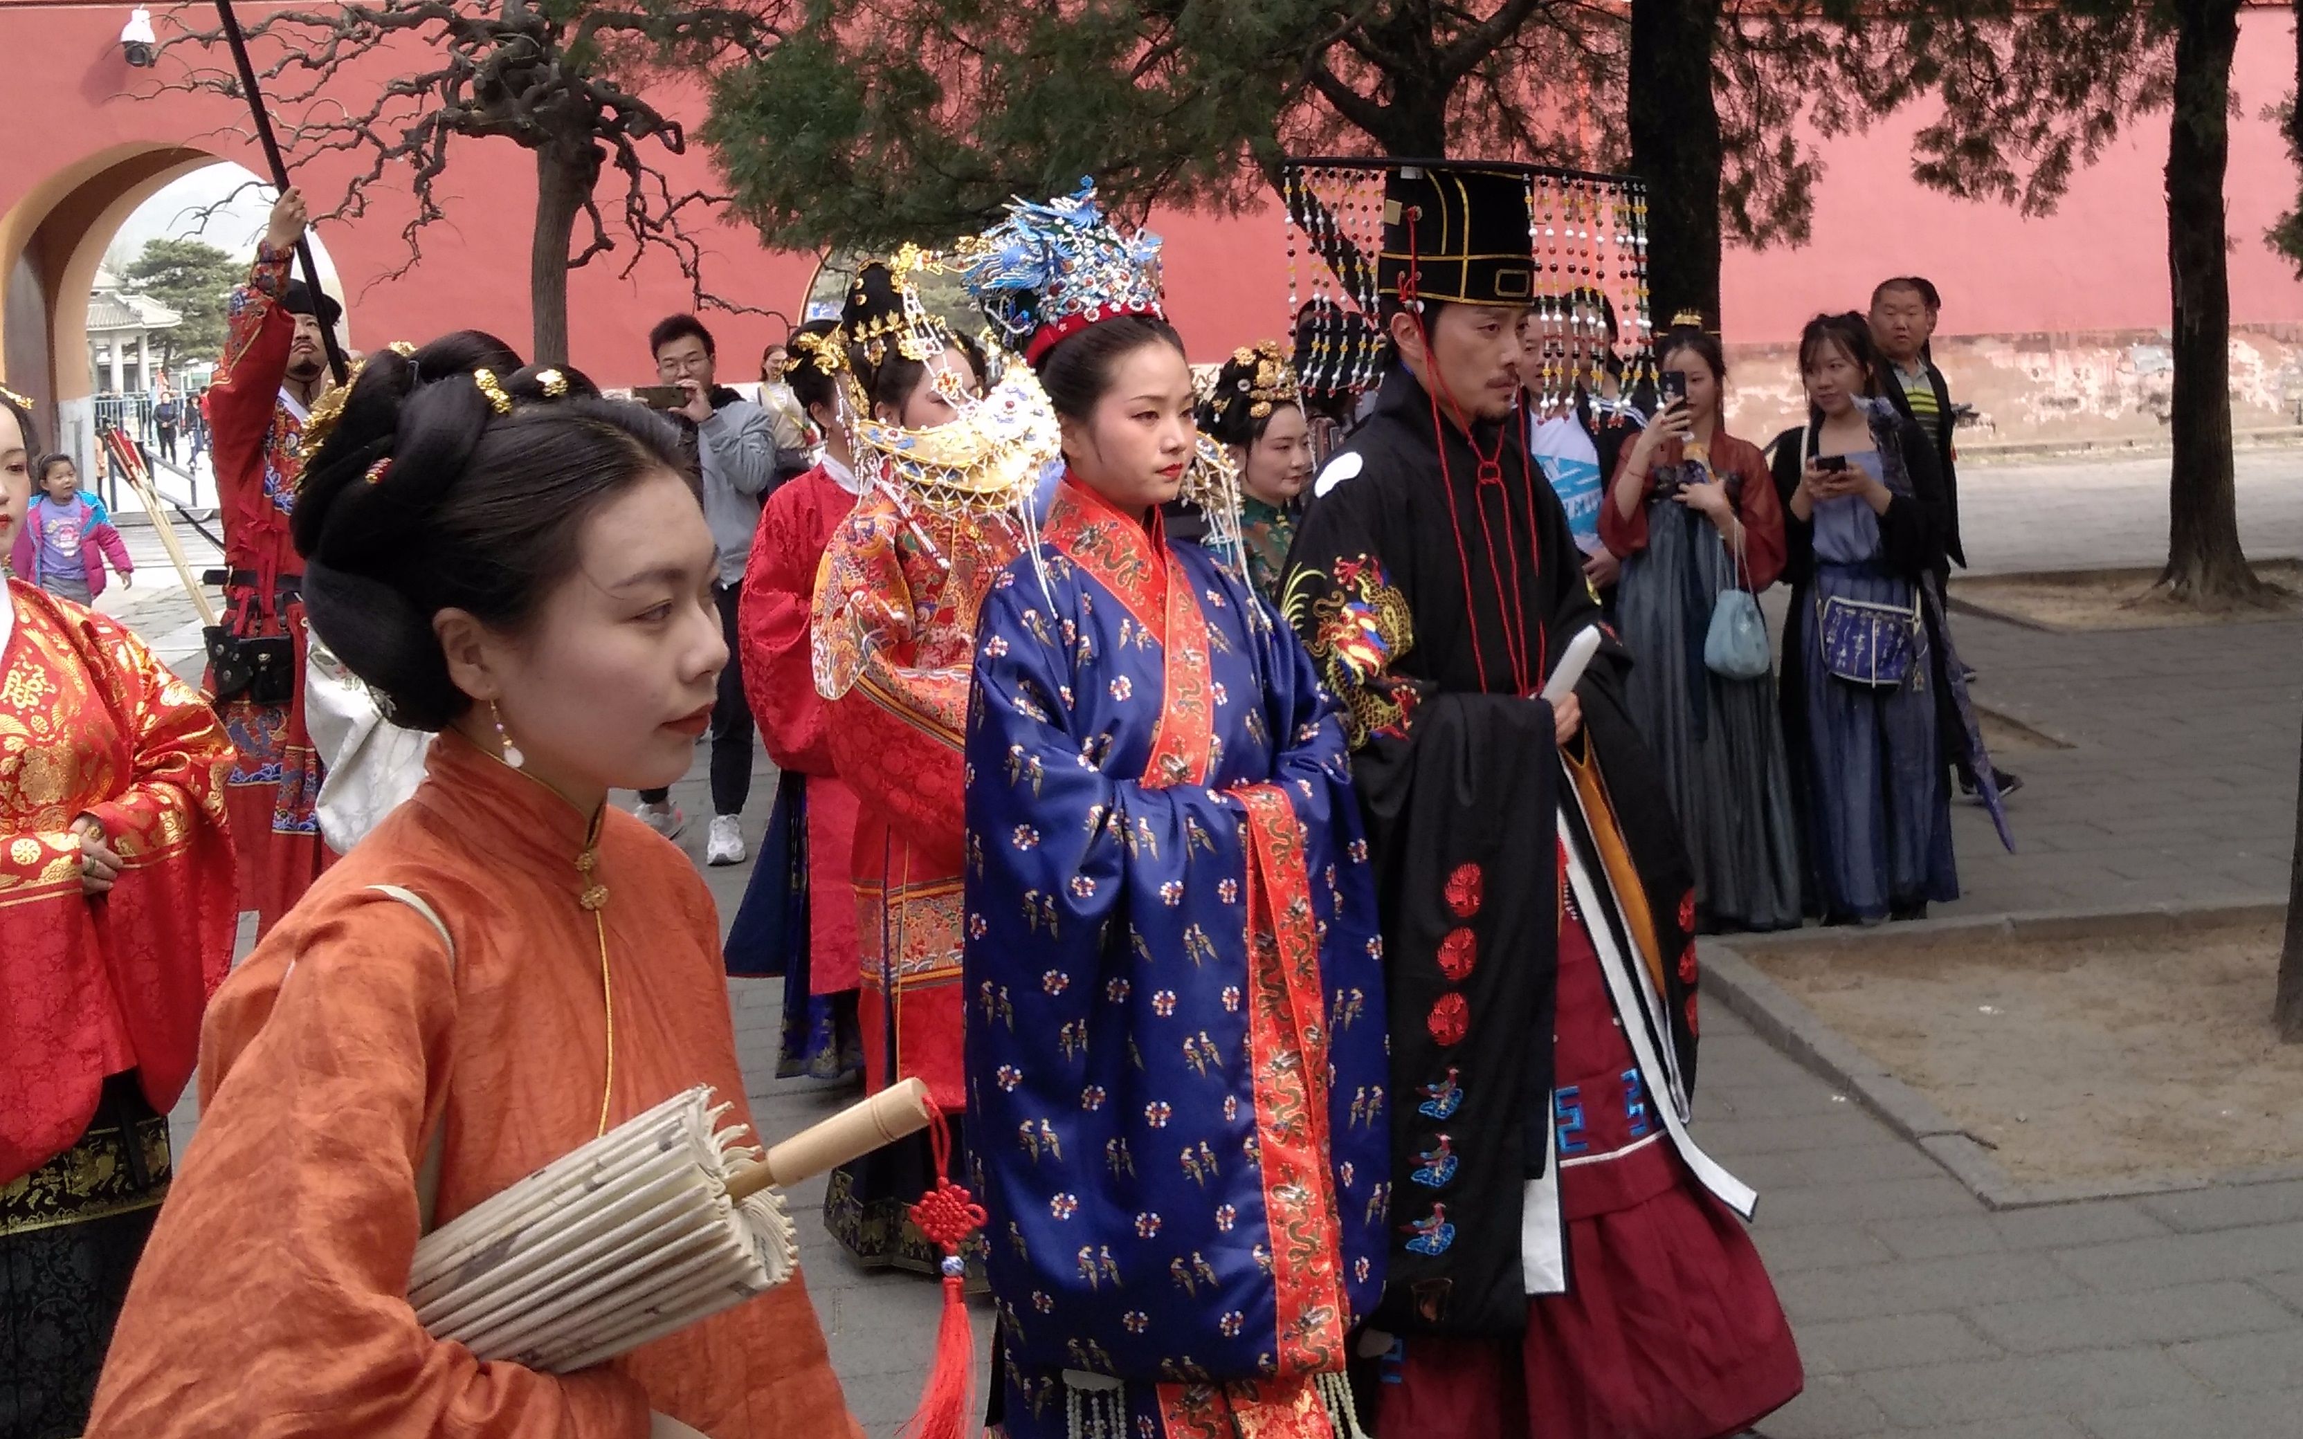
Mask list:
POLYGON ((1743 951, 2017 1181, 2303 1160, 2303 1045, 2271 1031, 2275 923, 1743 951))

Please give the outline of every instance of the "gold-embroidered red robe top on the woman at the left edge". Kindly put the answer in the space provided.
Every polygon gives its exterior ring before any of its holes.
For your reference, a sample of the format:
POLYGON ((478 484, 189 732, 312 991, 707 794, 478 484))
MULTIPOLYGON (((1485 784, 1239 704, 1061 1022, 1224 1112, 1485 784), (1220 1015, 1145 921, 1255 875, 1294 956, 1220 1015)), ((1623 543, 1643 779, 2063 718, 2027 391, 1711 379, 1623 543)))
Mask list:
POLYGON ((168 1112, 233 955, 233 751, 200 695, 113 619, 9 580, 0 633, 0 1183, 88 1128, 106 1075, 168 1112), (122 870, 81 891, 71 822, 122 870))

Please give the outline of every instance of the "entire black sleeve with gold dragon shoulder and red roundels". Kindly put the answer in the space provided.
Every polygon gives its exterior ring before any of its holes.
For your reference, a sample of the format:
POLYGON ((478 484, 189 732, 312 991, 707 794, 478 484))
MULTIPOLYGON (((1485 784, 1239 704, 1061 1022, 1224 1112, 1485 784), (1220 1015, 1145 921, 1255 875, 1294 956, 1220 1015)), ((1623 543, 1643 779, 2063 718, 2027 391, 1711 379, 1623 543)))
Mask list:
POLYGON ((1416 617, 1386 541, 1405 548, 1382 493, 1347 484, 1313 507, 1283 589, 1347 716, 1384 930, 1393 1241, 1370 1322, 1520 1333, 1520 1193, 1550 1154, 1552 709, 1396 672, 1416 652, 1416 617))

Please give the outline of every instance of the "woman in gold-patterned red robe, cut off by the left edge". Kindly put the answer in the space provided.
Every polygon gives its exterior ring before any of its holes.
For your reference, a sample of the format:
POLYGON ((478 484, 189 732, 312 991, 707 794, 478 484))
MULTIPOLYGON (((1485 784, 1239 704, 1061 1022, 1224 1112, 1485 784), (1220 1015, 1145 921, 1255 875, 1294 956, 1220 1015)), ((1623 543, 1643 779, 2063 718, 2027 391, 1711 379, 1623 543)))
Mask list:
MULTIPOLYGON (((0 546, 30 408, 0 391, 0 546)), ((0 585, 0 1434, 78 1434, 233 953, 214 711, 104 615, 0 585)))

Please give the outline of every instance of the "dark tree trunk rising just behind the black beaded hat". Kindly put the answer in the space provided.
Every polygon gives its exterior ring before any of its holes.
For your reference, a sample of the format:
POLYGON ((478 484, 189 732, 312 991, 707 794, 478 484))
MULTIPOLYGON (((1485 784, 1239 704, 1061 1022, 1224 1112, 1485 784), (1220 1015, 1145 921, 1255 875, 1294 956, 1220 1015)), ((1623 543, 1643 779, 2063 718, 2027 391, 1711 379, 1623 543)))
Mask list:
POLYGON ((1631 0, 1631 170, 1647 180, 1647 283, 1656 327, 1695 311, 1720 325, 1720 115, 1711 48, 1720 0, 1631 0))

